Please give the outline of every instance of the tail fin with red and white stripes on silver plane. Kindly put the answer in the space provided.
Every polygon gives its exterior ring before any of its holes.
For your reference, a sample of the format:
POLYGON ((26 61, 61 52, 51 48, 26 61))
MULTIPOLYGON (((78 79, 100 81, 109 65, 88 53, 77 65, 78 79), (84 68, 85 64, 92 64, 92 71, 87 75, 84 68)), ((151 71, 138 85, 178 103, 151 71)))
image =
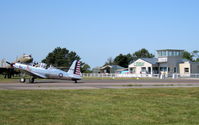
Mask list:
POLYGON ((73 64, 71 65, 70 69, 68 70, 69 74, 75 74, 75 75, 81 75, 81 71, 80 71, 80 61, 76 60, 73 62, 73 64))

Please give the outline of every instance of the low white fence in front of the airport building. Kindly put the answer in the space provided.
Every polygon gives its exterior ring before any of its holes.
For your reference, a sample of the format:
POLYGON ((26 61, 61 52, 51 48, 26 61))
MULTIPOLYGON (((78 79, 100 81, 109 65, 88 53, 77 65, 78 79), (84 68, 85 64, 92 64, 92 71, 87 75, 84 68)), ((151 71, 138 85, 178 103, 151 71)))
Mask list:
POLYGON ((199 73, 195 74, 118 74, 118 73, 83 73, 85 78, 199 78, 199 73))

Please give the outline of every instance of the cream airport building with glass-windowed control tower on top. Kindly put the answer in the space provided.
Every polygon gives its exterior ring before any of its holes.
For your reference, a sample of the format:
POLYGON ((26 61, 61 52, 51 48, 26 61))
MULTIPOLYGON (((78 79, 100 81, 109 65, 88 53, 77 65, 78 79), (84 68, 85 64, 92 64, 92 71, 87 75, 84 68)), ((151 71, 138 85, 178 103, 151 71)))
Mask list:
POLYGON ((157 50, 157 58, 140 58, 129 65, 132 74, 191 74, 199 73, 199 63, 182 58, 184 50, 157 50))

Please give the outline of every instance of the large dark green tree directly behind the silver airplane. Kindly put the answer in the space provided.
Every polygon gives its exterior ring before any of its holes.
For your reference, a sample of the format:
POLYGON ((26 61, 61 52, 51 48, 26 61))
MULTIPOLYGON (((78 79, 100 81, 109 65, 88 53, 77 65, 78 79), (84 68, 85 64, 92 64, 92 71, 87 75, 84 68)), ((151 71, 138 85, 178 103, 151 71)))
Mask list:
POLYGON ((55 67, 70 67, 75 60, 80 60, 75 52, 57 47, 42 62, 55 67))

